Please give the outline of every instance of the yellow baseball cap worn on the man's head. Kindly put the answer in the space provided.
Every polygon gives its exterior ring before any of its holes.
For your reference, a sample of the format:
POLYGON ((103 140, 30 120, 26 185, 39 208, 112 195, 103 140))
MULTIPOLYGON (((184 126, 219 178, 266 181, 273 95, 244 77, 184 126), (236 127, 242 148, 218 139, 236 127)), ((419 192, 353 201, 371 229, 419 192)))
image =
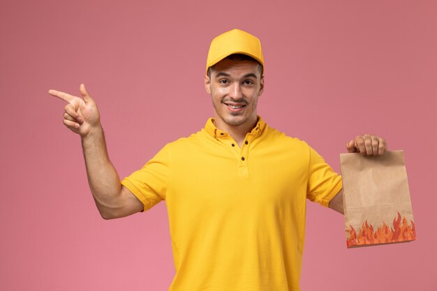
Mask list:
POLYGON ((264 69, 264 57, 262 57, 261 42, 255 36, 246 31, 232 29, 214 38, 209 47, 207 58, 208 68, 231 54, 246 54, 260 62, 264 69))

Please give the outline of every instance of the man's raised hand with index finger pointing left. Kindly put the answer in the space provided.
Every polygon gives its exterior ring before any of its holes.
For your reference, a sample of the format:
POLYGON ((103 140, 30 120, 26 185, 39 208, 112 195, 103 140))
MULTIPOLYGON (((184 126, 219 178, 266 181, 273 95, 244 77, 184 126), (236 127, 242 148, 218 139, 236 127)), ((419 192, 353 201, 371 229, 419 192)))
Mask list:
POLYGON ((73 96, 57 90, 49 90, 49 94, 60 98, 68 104, 64 107, 64 125, 82 137, 91 133, 94 128, 100 126, 100 114, 97 105, 89 96, 84 84, 80 84, 80 95, 73 96))

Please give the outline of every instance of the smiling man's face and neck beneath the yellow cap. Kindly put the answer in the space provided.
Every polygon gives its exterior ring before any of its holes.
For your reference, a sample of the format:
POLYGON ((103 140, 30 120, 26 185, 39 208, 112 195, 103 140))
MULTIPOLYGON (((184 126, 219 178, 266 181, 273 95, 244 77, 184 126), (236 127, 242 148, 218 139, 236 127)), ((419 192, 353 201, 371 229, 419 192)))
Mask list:
POLYGON ((205 76, 205 89, 212 96, 216 126, 252 126, 256 105, 264 87, 259 64, 223 59, 205 76))

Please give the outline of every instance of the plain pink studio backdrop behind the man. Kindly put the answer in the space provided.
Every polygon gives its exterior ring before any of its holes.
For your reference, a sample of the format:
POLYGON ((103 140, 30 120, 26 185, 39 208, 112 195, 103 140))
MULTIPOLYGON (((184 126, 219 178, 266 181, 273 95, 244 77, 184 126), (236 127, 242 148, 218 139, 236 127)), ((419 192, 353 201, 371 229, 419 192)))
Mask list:
POLYGON ((240 28, 262 40, 271 126, 337 171, 357 134, 405 151, 418 240, 348 250, 343 217, 309 202, 302 290, 437 290, 436 15, 436 1, 1 1, 0 289, 168 290, 165 203, 104 221, 47 90, 87 85, 125 177, 202 128, 209 42, 240 28))

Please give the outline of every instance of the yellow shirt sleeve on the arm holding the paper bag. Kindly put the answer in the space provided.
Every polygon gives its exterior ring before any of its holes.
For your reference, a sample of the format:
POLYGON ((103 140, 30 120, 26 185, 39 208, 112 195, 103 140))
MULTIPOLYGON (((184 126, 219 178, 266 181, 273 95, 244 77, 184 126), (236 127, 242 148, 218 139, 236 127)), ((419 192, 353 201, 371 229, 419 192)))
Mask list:
POLYGON ((314 149, 309 147, 308 186, 306 197, 325 207, 341 190, 341 176, 332 170, 314 149))

